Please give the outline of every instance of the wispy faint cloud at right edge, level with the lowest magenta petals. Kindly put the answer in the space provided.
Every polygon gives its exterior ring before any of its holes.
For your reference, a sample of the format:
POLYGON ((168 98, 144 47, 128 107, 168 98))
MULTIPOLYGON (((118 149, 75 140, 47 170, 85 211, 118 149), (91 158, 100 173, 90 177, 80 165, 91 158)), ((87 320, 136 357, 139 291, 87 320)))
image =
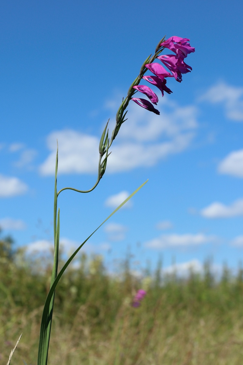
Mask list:
POLYGON ((225 82, 218 82, 202 95, 199 101, 208 101, 216 104, 222 103, 229 119, 236 122, 243 122, 243 88, 227 85, 225 82))

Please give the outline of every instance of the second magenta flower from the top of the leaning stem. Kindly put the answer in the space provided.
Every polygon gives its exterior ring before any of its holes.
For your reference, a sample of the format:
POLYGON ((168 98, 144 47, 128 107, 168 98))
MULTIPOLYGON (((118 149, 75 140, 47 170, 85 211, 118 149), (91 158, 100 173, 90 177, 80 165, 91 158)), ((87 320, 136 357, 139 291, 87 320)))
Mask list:
POLYGON ((158 56, 157 58, 160 59, 160 61, 163 62, 166 67, 168 67, 168 69, 175 77, 176 81, 181 82, 181 74, 191 72, 189 69, 192 70, 191 66, 185 64, 183 59, 177 59, 176 56, 173 54, 164 54, 162 56, 158 56))

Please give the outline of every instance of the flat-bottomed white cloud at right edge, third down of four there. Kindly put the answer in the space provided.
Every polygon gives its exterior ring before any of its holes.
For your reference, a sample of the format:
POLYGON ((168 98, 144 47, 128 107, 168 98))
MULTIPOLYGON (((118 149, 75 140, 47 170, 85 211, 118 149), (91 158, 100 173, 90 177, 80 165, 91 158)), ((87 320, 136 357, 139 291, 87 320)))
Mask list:
POLYGON ((234 201, 231 205, 224 205, 215 201, 201 210, 205 218, 229 218, 243 215, 243 199, 234 201))

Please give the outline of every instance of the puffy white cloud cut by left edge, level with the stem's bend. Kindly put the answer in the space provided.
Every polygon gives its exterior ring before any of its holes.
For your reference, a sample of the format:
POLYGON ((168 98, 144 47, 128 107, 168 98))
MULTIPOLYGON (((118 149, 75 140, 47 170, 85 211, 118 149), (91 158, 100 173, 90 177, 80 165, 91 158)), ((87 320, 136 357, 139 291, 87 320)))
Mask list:
POLYGON ((17 177, 7 177, 0 174, 0 197, 22 195, 27 190, 27 185, 17 177))

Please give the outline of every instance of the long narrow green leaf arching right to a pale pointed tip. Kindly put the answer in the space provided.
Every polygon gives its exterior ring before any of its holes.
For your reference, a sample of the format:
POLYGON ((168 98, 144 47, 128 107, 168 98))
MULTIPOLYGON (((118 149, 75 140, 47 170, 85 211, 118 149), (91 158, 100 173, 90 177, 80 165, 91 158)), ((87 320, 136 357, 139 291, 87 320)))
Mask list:
POLYGON ((119 205, 100 225, 96 230, 91 233, 91 235, 86 238, 86 240, 78 247, 78 249, 71 255, 71 257, 67 260, 66 264, 64 264, 63 268, 60 270, 59 274, 57 275, 56 279, 54 280, 54 283, 52 284, 50 291, 47 295, 46 302, 43 309, 42 314, 42 321, 40 325, 40 342, 39 342, 39 351, 38 351, 38 365, 46 365, 47 364, 47 348, 46 348, 46 339, 47 339, 47 328, 48 324, 50 322, 50 303, 52 300, 52 296, 55 292, 56 285, 58 284, 60 278, 62 277, 64 271, 66 270, 67 266, 70 264, 72 259, 75 257, 75 255, 78 253, 78 251, 81 249, 81 247, 88 241, 88 239, 113 215, 115 212, 117 212, 129 199, 131 199, 146 183, 148 180, 145 181, 139 188, 137 188, 129 197, 124 200, 123 203, 119 205))

